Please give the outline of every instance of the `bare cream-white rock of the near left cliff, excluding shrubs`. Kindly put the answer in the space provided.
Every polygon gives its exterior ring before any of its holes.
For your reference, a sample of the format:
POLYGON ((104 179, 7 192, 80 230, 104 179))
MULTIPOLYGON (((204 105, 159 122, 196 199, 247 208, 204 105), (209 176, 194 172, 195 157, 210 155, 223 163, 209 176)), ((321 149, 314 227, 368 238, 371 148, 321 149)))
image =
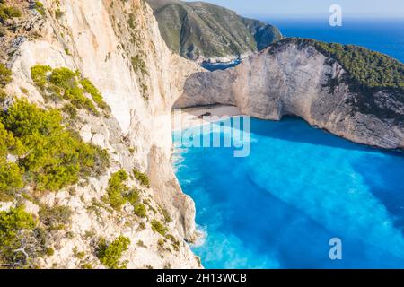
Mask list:
MULTIPOLYGON (((83 121, 76 128, 84 141, 107 149, 112 164, 100 178, 89 178, 69 191, 39 199, 42 204, 66 204, 74 211, 69 227, 72 238, 63 233, 54 235, 55 255, 40 259, 40 266, 80 267, 83 260, 74 255, 78 247, 86 253, 87 261, 101 267, 91 252, 94 238, 114 239, 122 234, 131 240, 122 258, 127 259, 129 268, 198 268, 198 258, 183 240, 194 236, 195 207, 181 192, 170 164, 170 113, 188 75, 201 68, 169 51, 151 9, 142 0, 57 2, 42 1, 45 17, 31 10, 33 32, 23 35, 8 61, 13 83, 6 91, 22 95, 23 87, 31 102, 44 105, 31 81, 31 66, 66 66, 80 71, 101 91, 111 117, 80 111, 83 121), (145 171, 151 179, 151 188, 133 180, 130 183, 143 190, 149 202, 148 219, 133 215, 130 204, 122 213, 101 204, 110 173, 119 169, 130 173, 133 168, 145 171), (171 242, 157 244, 162 238, 151 229, 150 221, 163 221, 162 210, 170 214, 168 232, 179 240, 179 250, 173 250, 171 242), (94 233, 92 237, 85 236, 90 233, 94 233)), ((36 204, 25 204, 33 206, 31 213, 37 213, 36 204)))

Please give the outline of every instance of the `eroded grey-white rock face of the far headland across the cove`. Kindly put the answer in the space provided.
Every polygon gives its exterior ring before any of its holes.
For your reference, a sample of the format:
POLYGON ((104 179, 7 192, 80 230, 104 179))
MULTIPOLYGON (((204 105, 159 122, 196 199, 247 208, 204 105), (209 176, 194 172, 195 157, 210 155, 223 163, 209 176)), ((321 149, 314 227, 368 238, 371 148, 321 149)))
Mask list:
POLYGON ((356 143, 404 148, 404 95, 353 92, 345 78, 316 48, 286 42, 232 69, 193 74, 175 107, 220 103, 263 119, 295 115, 356 143))

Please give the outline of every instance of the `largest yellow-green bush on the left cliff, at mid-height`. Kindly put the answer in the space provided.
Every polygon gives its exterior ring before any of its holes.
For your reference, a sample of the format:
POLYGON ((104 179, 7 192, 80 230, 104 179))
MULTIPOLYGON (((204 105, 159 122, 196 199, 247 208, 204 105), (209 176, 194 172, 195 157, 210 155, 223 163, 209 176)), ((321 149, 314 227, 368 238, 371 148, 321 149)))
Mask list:
POLYGON ((79 135, 62 126, 56 109, 40 109, 27 100, 15 100, 0 122, 16 141, 13 149, 24 178, 40 190, 58 190, 75 184, 92 170, 102 172, 108 164, 105 151, 83 143, 79 135), (23 156, 22 156, 23 154, 23 156))

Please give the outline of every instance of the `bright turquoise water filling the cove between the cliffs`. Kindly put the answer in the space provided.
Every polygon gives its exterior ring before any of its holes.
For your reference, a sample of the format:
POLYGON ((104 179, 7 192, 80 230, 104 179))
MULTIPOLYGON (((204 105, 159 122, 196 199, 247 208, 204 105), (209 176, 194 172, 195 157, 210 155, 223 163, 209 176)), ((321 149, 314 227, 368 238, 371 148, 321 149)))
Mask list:
MULTIPOLYGON (((229 131, 222 131, 228 133, 229 131)), ((251 120, 251 152, 177 149, 207 268, 404 268, 404 156, 287 117, 251 120), (329 259, 329 239, 342 260, 329 259)))

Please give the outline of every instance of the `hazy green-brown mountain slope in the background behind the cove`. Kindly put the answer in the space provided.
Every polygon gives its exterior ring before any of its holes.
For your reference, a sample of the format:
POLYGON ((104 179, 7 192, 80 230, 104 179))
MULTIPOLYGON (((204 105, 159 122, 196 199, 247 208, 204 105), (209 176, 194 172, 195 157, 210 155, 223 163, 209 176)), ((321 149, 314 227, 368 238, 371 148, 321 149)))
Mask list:
POLYGON ((228 61, 261 50, 281 39, 276 27, 243 18, 204 2, 147 0, 162 38, 172 51, 192 60, 228 61))

